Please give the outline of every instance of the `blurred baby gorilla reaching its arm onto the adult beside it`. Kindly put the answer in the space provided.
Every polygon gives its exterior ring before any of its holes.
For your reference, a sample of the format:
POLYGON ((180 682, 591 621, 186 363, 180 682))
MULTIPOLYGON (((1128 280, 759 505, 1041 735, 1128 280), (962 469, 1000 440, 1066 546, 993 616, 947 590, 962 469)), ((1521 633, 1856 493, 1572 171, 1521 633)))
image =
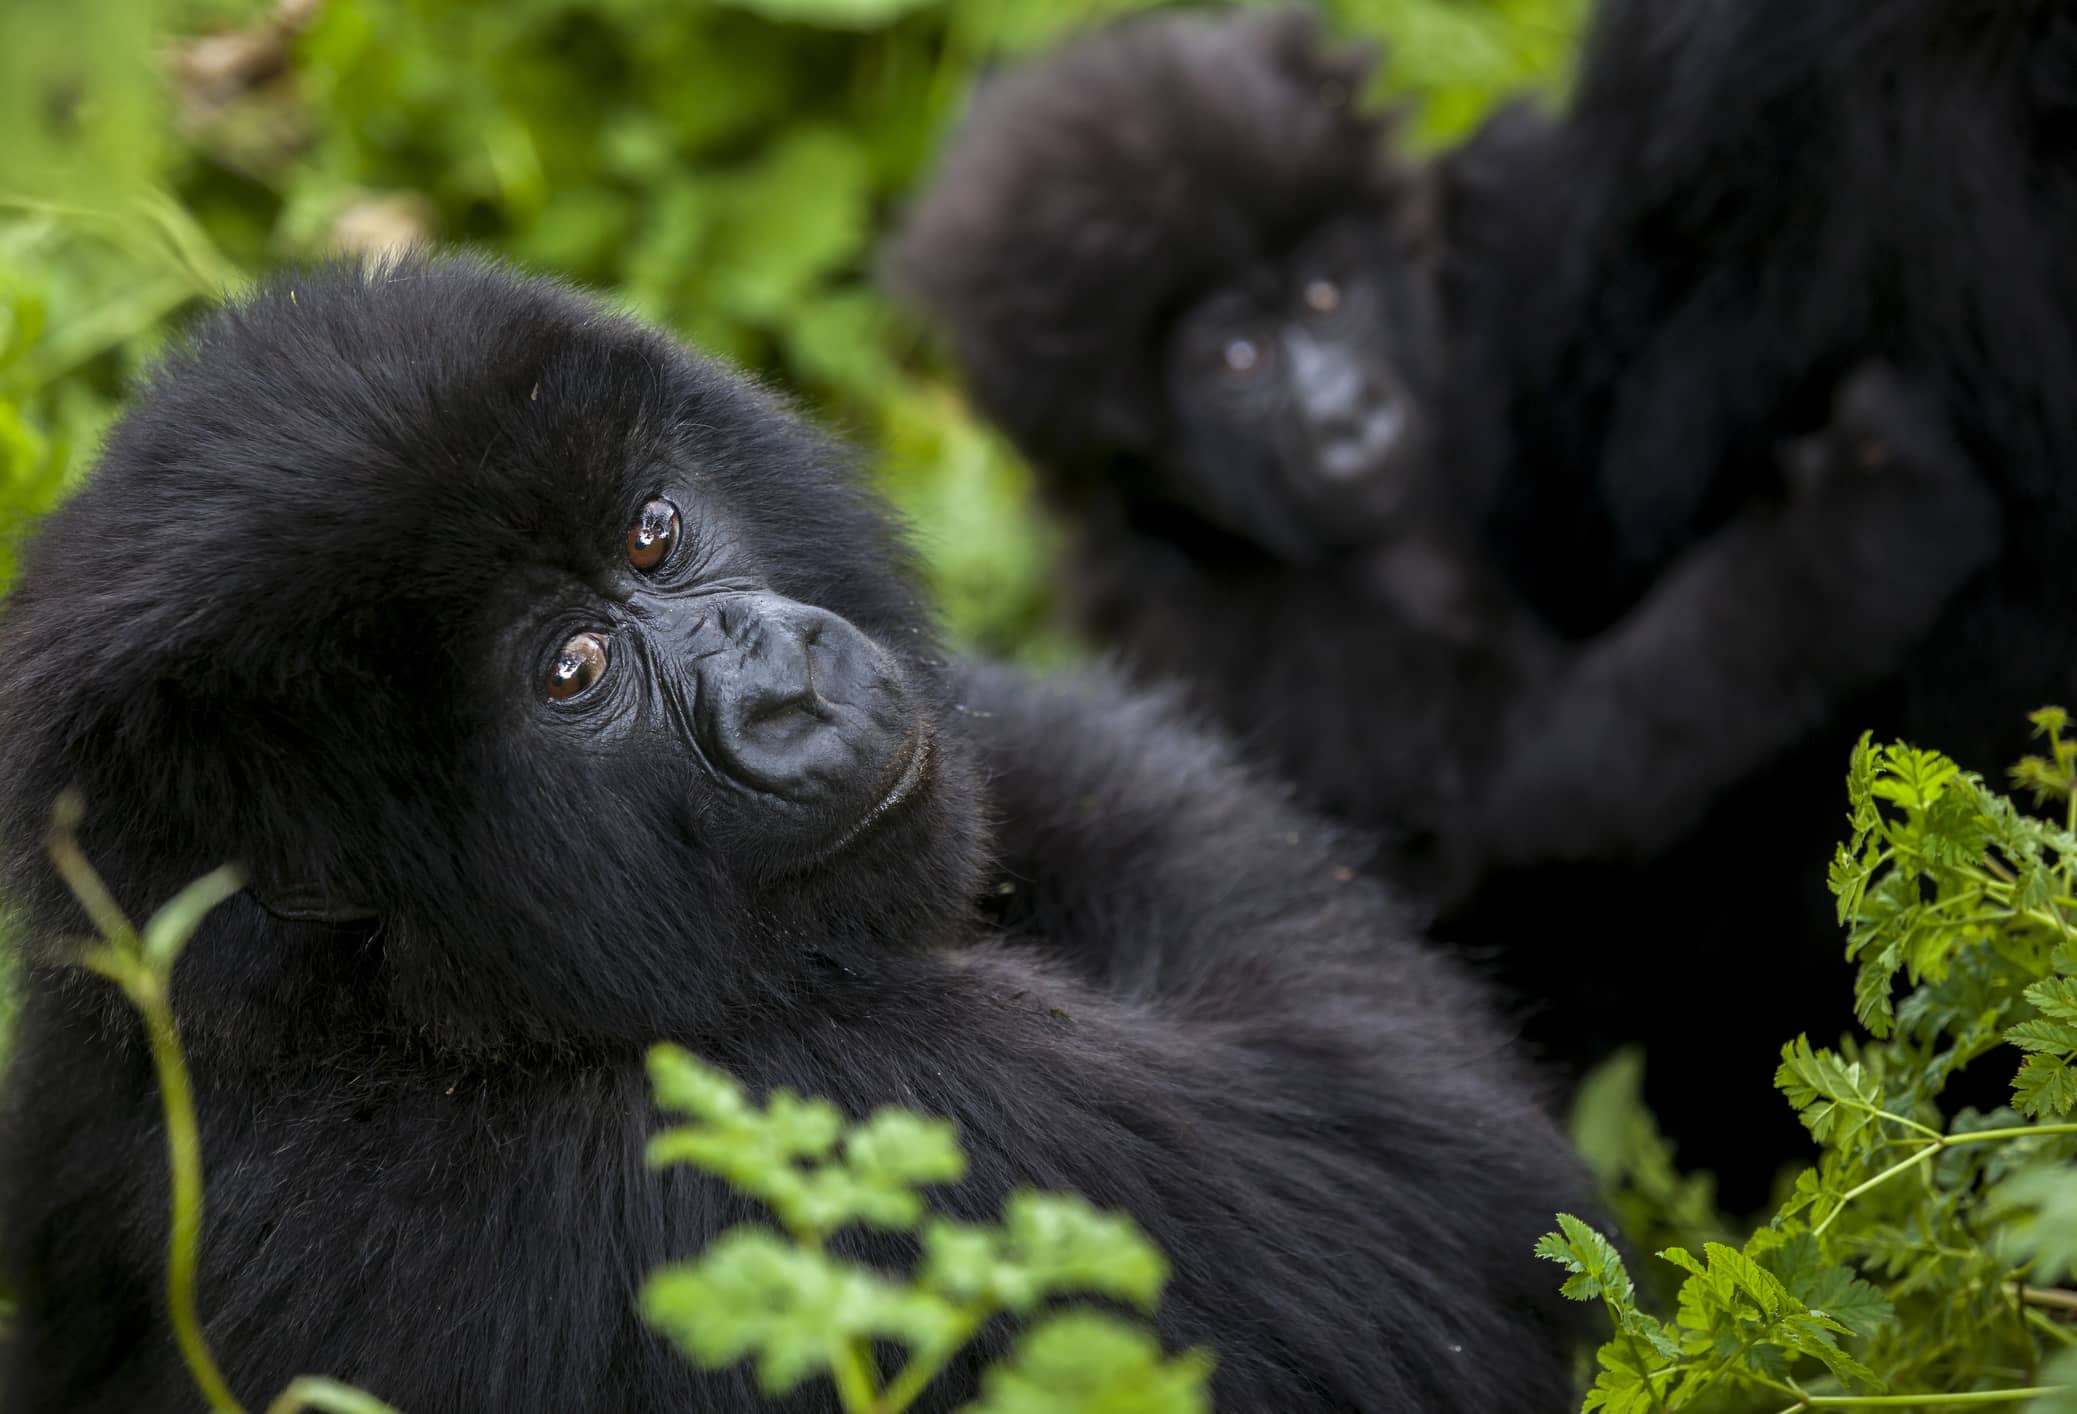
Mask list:
MULTIPOLYGON (((1306 12, 1082 42, 980 96, 889 276, 1072 519, 1080 625, 1186 679, 1333 814, 1398 835, 1381 864, 1448 905, 1483 899, 1500 866, 1649 858, 1892 671, 2000 525, 1911 380, 1838 370, 1828 428, 1786 459, 1786 505, 1747 509, 1626 619, 1560 642, 1479 538, 1514 492, 1504 280, 1556 137, 1512 108, 1417 168, 1354 108, 1363 77, 1306 12)), ((1716 448, 1657 455, 1684 475, 1716 448)), ((1801 866, 1819 882, 1822 860, 1801 866)), ((1477 943, 1552 1003, 1533 1028, 1547 1051, 1649 1040, 1726 1140, 1705 1157, 1757 1157, 1763 1177, 1780 1150, 1753 1136, 1799 1134, 1765 1057, 1807 1024, 1757 966, 1770 934, 1741 939, 1774 995, 1772 1011, 1741 997, 1751 1069, 1726 1076, 1649 984, 1647 949, 1684 936, 1736 858, 1718 868, 1614 947, 1622 876, 1570 909, 1510 895, 1512 928, 1477 943), (1595 955, 1549 947, 1554 926, 1591 930, 1595 955), (1612 990, 1612 966, 1645 980, 1612 990)))

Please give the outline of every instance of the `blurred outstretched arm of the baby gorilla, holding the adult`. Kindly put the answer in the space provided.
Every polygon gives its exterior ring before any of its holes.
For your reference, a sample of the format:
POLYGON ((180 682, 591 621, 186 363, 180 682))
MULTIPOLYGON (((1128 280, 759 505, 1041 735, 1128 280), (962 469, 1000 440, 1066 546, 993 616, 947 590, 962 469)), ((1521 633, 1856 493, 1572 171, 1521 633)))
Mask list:
POLYGON ((1653 853, 1892 673, 1998 548, 1990 484, 1886 370, 1803 459, 1788 507, 1697 546, 1520 702, 1462 833, 1479 864, 1653 853))

